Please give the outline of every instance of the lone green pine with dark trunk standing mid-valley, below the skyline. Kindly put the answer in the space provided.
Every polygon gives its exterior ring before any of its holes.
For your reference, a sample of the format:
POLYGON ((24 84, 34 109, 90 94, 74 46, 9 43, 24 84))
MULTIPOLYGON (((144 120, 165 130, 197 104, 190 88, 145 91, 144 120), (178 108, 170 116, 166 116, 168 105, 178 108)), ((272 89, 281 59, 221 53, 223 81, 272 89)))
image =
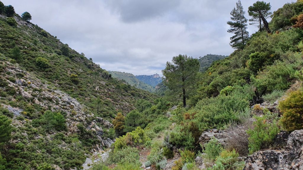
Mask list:
POLYGON ((172 63, 167 62, 162 70, 166 78, 164 85, 171 90, 171 95, 183 100, 183 107, 186 107, 186 98, 194 90, 193 85, 196 83, 199 68, 198 59, 179 54, 173 57, 172 63))

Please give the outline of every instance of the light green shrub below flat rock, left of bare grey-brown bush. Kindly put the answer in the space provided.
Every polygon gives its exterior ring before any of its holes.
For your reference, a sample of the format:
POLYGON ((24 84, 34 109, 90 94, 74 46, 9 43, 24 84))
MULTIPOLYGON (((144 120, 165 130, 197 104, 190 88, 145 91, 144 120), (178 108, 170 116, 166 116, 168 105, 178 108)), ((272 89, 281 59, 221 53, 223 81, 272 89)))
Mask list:
POLYGON ((203 153, 205 153, 205 155, 202 157, 206 162, 209 163, 208 165, 212 165, 215 162, 217 156, 220 155, 222 149, 222 145, 218 142, 218 140, 213 138, 204 145, 203 153))

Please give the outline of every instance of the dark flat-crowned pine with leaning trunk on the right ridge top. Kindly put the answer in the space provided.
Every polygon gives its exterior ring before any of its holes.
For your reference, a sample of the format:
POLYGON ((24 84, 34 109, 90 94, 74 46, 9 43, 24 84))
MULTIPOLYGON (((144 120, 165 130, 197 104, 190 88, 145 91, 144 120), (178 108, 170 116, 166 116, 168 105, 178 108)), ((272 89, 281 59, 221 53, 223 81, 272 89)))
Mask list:
POLYGON ((259 23, 259 31, 262 31, 261 20, 263 22, 264 28, 268 33, 271 33, 268 22, 266 18, 268 18, 271 13, 271 5, 270 3, 266 3, 264 1, 257 1, 252 6, 248 7, 248 15, 252 18, 250 25, 255 25, 259 23))

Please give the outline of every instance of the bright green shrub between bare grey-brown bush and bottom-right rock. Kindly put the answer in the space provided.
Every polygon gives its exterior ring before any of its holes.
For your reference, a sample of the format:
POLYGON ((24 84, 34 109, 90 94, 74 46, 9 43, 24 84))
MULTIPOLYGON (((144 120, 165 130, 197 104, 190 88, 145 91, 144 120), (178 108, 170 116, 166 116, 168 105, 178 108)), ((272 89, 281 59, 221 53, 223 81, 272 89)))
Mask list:
POLYGON ((265 117, 255 116, 254 127, 247 130, 250 154, 268 146, 279 132, 276 122, 267 123, 265 117))

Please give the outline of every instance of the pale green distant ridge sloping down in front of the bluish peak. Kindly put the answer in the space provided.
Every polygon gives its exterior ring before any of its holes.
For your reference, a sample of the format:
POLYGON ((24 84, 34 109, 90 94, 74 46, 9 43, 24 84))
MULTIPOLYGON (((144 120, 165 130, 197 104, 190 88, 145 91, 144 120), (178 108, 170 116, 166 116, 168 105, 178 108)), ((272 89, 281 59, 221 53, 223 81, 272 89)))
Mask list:
POLYGON ((112 77, 118 78, 122 81, 125 80, 126 83, 137 87, 138 89, 146 90, 149 92, 155 92, 155 87, 152 87, 151 85, 138 80, 133 74, 120 71, 109 71, 109 73, 112 74, 112 77))

